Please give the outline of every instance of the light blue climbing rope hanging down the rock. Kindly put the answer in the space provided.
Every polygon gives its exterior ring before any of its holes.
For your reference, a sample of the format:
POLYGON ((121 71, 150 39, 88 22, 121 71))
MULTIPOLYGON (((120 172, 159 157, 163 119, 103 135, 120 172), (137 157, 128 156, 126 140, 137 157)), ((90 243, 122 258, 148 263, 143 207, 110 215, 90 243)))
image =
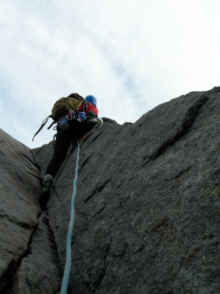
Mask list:
POLYGON ((69 228, 68 228, 68 233, 67 233, 67 238, 66 238, 66 265, 65 265, 64 276, 63 276, 60 294, 66 294, 68 284, 69 284, 69 274, 70 274, 70 268, 71 268, 71 239, 72 239, 72 230, 73 230, 73 225, 74 225, 74 202, 75 202, 75 196, 76 196, 76 182, 77 182, 77 178, 78 178, 79 151, 80 151, 80 144, 78 142, 75 179, 73 182, 73 194, 72 194, 72 199, 71 199, 70 221, 69 221, 69 228))

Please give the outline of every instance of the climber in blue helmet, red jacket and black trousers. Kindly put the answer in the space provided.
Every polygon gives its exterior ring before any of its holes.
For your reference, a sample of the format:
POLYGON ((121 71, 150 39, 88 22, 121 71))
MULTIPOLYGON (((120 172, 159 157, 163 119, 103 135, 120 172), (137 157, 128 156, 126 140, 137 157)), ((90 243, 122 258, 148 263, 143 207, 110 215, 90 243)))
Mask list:
POLYGON ((75 119, 69 120, 67 121, 68 127, 65 130, 62 130, 59 124, 57 125, 54 153, 46 168, 43 181, 44 188, 39 199, 42 208, 46 206, 50 196, 53 179, 64 162, 72 141, 81 139, 83 135, 90 131, 95 125, 103 123, 102 119, 98 118, 96 104, 97 99, 92 95, 88 95, 85 98, 84 105, 82 104, 78 110, 79 114, 85 112, 86 119, 84 121, 79 122, 75 119))

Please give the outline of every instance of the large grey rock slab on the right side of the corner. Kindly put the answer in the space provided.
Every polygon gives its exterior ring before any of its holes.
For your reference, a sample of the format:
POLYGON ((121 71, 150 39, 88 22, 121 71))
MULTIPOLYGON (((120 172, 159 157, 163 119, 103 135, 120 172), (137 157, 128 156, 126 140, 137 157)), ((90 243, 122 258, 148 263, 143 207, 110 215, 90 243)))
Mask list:
MULTIPOLYGON (((75 162, 48 203, 63 268, 75 162)), ((80 147, 70 293, 219 293, 219 196, 220 87, 99 126, 80 147)))

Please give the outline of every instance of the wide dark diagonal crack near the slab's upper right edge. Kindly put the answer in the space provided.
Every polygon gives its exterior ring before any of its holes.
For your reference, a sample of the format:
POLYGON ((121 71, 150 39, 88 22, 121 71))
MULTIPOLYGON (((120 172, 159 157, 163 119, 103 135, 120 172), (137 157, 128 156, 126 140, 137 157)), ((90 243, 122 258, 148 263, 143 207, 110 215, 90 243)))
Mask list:
POLYGON ((150 161, 153 161, 156 157, 158 157, 168 146, 173 145, 177 140, 179 140, 186 131, 193 125, 199 109, 205 104, 205 102, 208 100, 208 96, 203 94, 197 102, 191 106, 187 113, 185 114, 185 117, 183 119, 182 125, 177 129, 176 134, 174 134, 172 137, 170 137, 167 141, 165 141, 160 147, 157 148, 157 150, 150 156, 144 156, 144 163, 142 166, 145 166, 150 161), (148 159, 147 159, 148 158, 148 159))

